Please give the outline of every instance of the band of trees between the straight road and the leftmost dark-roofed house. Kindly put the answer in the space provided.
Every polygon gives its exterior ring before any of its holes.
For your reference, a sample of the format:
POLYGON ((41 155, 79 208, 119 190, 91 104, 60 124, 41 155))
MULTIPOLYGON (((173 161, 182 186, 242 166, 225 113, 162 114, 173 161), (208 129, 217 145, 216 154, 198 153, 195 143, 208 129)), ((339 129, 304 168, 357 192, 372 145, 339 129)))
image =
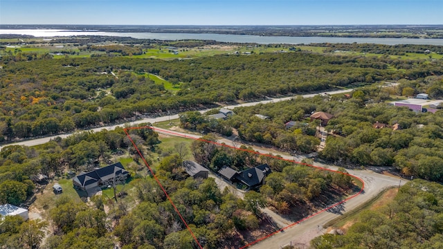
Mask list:
MULTIPOLYGON (((134 140, 147 147, 159 143, 151 129, 134 130, 134 140)), ((96 133, 84 131, 65 139, 55 139, 37 147, 10 145, 0 153, 0 203, 20 205, 33 195, 35 183, 43 176, 62 176, 65 169, 87 171, 129 149, 137 155, 122 128, 96 133), (100 160, 99 160, 100 159, 100 160)))

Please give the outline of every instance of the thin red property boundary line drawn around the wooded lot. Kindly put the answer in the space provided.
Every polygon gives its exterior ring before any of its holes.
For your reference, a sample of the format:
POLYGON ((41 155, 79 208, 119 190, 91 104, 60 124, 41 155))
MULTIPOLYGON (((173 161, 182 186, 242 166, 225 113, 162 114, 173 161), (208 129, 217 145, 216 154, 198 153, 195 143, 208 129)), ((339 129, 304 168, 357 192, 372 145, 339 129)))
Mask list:
POLYGON ((359 192, 357 192, 356 194, 354 194, 354 195, 348 197, 347 199, 344 199, 343 201, 339 201, 338 203, 334 203, 334 204, 330 205, 329 207, 327 207, 327 208, 325 208, 325 209, 323 209, 323 210, 320 210, 320 211, 318 211, 318 212, 316 212, 316 213, 314 213, 314 214, 311 214, 311 215, 309 215, 309 216, 307 216, 307 217, 305 217, 305 218, 303 218, 303 219, 300 219, 299 221, 296 221, 296 222, 294 222, 294 223, 291 223, 291 224, 287 225, 286 227, 281 228, 280 230, 277 230, 277 231, 275 231, 275 232, 272 232, 271 234, 268 234, 268 235, 266 235, 266 236, 264 236, 264 237, 262 237, 262 238, 260 238, 260 239, 257 239, 256 241, 252 241, 251 243, 248 243, 246 246, 242 246, 242 247, 239 248, 239 249, 244 249, 244 248, 247 248, 247 247, 249 247, 249 246, 252 246, 253 244, 258 243, 258 242, 260 242, 260 241, 262 241, 262 240, 264 240, 264 239, 267 239, 267 238, 273 236, 274 234, 278 234, 279 232, 282 232, 283 230, 287 230, 288 228, 291 228, 291 227, 293 227, 294 225, 298 225, 298 224, 301 223, 302 221, 306 221, 307 219, 310 219, 310 218, 312 218, 312 217, 314 217, 314 216, 316 216, 316 215, 318 215, 318 214, 321 214, 321 213, 323 213, 323 212, 325 212, 325 211, 327 211, 327 210, 330 210, 330 209, 336 207, 337 205, 341 205, 341 204, 345 203, 346 201, 349 201, 350 199, 353 199, 354 197, 356 197, 356 196, 358 196, 359 194, 361 194, 361 192, 363 192, 363 189, 365 188, 365 182, 364 182, 361 178, 359 178, 359 177, 357 177, 357 176, 353 176, 352 174, 348 174, 348 173, 344 173, 344 172, 338 172, 338 171, 333 170, 333 169, 327 169, 327 168, 325 168, 325 167, 319 167, 319 166, 316 166, 316 165, 310 165, 310 164, 307 164, 307 163, 300 163, 300 162, 296 162, 295 160, 284 159, 284 158, 280 158, 280 157, 278 157, 278 156, 271 156, 271 155, 269 155, 269 154, 262 154, 262 153, 260 153, 260 152, 257 152, 257 151, 251 151, 251 150, 248 150, 248 149, 240 149, 240 148, 233 147, 233 146, 230 146, 230 145, 221 144, 221 143, 219 143, 219 142, 213 142, 213 141, 210 141, 210 140, 204 140, 204 139, 201 139, 201 138, 193 138, 193 137, 190 137, 190 136, 183 135, 183 134, 181 134, 181 133, 176 133, 176 132, 172 132, 172 131, 168 131, 168 130, 164 130, 164 129, 158 129, 158 128, 154 128, 154 127, 150 127, 150 126, 145 126, 145 127, 131 127, 131 128, 125 128, 125 129, 123 129, 123 130, 125 131, 125 133, 126 133, 126 136, 127 136, 127 137, 129 138, 129 140, 132 142, 132 145, 134 145, 134 148, 135 148, 136 151, 138 152, 138 155, 141 156, 141 158, 142 158, 142 160, 143 160, 143 163, 145 163, 147 169, 149 169, 150 172, 151 172, 151 174, 152 174, 152 176, 154 176, 155 181, 157 182, 157 184, 159 184, 159 186, 161 187, 161 190, 163 190, 163 193, 165 193, 165 196, 168 198, 168 200, 169 200, 169 202, 171 203, 172 207, 174 208, 175 212, 177 212, 177 214, 179 214, 181 221, 183 221, 183 223, 186 225, 186 228, 188 229, 188 231, 189 231, 190 234, 192 235, 192 238, 194 238, 195 242, 197 243, 197 245, 199 246, 200 249, 203 249, 203 247, 202 247, 201 244, 199 243, 199 241, 198 241, 197 237, 195 236, 194 232, 192 232, 192 230, 191 230, 191 228, 189 227, 188 223, 186 223, 185 219, 183 219, 183 216, 181 216, 179 210, 177 209, 177 207, 174 205, 174 203, 173 203, 172 200, 170 199, 170 196, 169 196, 168 193, 166 192, 165 188, 163 187, 163 185, 161 185, 161 183, 160 183, 160 181, 159 181, 159 178, 157 178, 157 176, 154 174, 154 172, 152 171, 150 165, 147 164, 146 159, 143 157, 143 155, 141 154, 141 151, 138 149, 138 147, 137 147, 136 144, 134 143, 134 140, 132 140, 131 136, 130 136, 129 133, 127 132, 128 130, 131 130, 131 129, 152 129, 153 131, 161 131, 162 133, 169 133, 169 134, 171 134, 172 136, 180 136, 180 137, 182 137, 182 138, 190 138, 190 139, 194 139, 194 140, 200 140, 200 141, 204 141, 204 142, 209 142, 209 143, 212 143, 212 144, 214 144, 214 145, 219 145, 219 146, 228 147, 228 148, 232 148, 232 149, 238 149, 238 150, 241 150, 241 151, 246 151, 246 152, 249 152, 249 153, 258 154, 258 155, 261 155, 261 156, 268 156, 268 157, 275 158, 275 159, 286 160, 286 161, 291 162, 291 163, 297 163, 297 164, 305 165, 305 166, 308 166, 308 167, 314 167, 314 168, 316 168, 316 169, 322 169, 322 170, 326 170, 326 171, 329 171, 329 172, 334 172, 334 173, 336 173, 336 174, 344 174, 344 175, 347 175, 347 176, 351 176, 352 178, 354 178, 354 179, 356 179, 357 181, 360 181, 360 182, 361 182, 361 184, 362 184, 361 190, 360 190, 359 192))

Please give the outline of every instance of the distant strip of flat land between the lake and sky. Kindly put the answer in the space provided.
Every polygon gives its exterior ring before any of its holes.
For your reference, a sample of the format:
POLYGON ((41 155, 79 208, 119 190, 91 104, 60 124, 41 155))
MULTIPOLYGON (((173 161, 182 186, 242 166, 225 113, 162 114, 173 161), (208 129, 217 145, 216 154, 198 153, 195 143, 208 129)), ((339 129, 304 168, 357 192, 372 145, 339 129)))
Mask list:
POLYGON ((62 25, 0 24, 1 30, 55 29, 71 32, 188 33, 257 35, 264 37, 343 37, 443 39, 441 25, 280 25, 280 26, 192 26, 192 25, 62 25))

